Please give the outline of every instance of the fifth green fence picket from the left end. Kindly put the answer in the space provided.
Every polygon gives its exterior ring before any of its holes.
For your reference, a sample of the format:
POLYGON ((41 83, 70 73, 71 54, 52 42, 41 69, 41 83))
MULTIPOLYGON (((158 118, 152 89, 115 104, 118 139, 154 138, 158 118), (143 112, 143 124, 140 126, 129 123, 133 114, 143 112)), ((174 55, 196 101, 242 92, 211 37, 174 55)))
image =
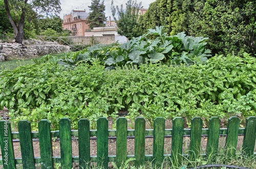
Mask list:
POLYGON ((78 138, 79 168, 90 168, 90 121, 88 119, 78 121, 78 138))

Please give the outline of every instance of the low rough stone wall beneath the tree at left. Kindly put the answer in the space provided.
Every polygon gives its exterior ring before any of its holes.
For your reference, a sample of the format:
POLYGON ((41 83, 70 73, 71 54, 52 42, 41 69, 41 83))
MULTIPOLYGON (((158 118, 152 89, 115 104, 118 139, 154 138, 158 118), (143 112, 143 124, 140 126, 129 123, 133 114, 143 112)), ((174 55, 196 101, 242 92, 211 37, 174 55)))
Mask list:
POLYGON ((24 40, 19 43, 0 43, 0 62, 9 59, 26 59, 50 53, 69 52, 70 46, 59 45, 57 42, 24 40))

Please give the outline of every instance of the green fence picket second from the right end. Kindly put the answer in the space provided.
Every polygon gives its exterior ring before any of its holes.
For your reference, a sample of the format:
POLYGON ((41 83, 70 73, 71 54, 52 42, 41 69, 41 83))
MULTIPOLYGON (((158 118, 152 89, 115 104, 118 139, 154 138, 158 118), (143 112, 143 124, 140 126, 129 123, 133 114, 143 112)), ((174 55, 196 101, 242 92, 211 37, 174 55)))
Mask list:
POLYGON ((240 120, 238 117, 230 117, 227 125, 227 137, 226 137, 226 154, 228 157, 236 156, 237 143, 238 143, 238 130, 240 120))

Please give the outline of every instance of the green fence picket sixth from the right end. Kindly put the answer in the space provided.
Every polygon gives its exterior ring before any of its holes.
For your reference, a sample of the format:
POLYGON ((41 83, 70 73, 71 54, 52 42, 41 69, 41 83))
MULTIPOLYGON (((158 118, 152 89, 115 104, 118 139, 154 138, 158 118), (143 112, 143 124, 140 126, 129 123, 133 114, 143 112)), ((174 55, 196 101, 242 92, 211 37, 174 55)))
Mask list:
POLYGON ((164 129, 165 120, 163 118, 156 118, 154 120, 153 162, 157 167, 161 167, 164 160, 164 129))

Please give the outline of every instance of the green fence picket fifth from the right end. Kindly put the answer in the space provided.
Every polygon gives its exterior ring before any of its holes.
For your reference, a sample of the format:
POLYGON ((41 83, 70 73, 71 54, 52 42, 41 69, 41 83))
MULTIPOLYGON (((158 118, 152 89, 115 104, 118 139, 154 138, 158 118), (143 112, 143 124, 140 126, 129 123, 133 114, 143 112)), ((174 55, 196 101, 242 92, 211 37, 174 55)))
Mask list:
POLYGON ((172 137, 172 163, 178 166, 182 160, 184 120, 181 117, 174 118, 172 137))

